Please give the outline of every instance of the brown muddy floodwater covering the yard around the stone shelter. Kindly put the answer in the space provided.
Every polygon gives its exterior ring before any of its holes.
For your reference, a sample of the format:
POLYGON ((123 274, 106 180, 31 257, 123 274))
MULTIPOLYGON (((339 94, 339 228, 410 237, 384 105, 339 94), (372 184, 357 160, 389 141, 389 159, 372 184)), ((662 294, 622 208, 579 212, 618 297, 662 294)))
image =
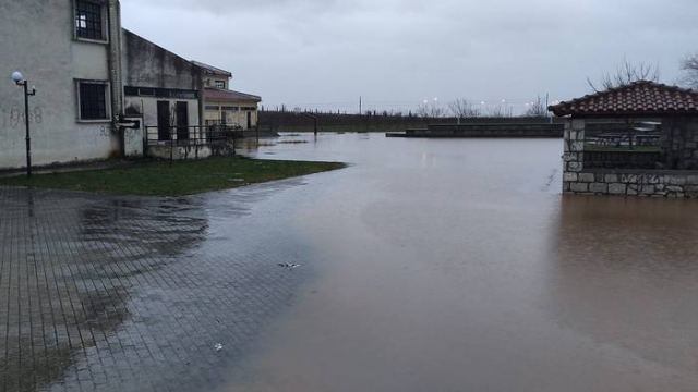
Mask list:
POLYGON ((563 197, 562 142, 285 136, 312 271, 222 391, 696 391, 698 203, 563 197))

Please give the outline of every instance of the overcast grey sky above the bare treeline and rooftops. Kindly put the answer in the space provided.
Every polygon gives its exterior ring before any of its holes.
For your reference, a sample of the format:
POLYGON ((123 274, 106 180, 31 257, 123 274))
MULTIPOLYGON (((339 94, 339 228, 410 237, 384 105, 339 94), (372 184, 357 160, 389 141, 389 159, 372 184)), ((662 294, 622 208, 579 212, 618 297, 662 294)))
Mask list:
MULTIPOLYGON (((121 0, 123 25, 264 105, 357 110, 589 93, 624 58, 675 83, 696 0, 121 0)), ((520 108, 520 107, 519 107, 520 108)), ((517 108, 517 109, 519 109, 517 108)))

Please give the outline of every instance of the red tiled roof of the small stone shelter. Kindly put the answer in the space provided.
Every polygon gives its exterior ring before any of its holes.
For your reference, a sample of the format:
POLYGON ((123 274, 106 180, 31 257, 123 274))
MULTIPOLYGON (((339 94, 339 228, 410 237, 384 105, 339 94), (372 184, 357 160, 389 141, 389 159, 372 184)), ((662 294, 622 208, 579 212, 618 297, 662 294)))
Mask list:
POLYGON ((698 91, 639 81, 561 102, 547 110, 557 117, 698 115, 698 91))

